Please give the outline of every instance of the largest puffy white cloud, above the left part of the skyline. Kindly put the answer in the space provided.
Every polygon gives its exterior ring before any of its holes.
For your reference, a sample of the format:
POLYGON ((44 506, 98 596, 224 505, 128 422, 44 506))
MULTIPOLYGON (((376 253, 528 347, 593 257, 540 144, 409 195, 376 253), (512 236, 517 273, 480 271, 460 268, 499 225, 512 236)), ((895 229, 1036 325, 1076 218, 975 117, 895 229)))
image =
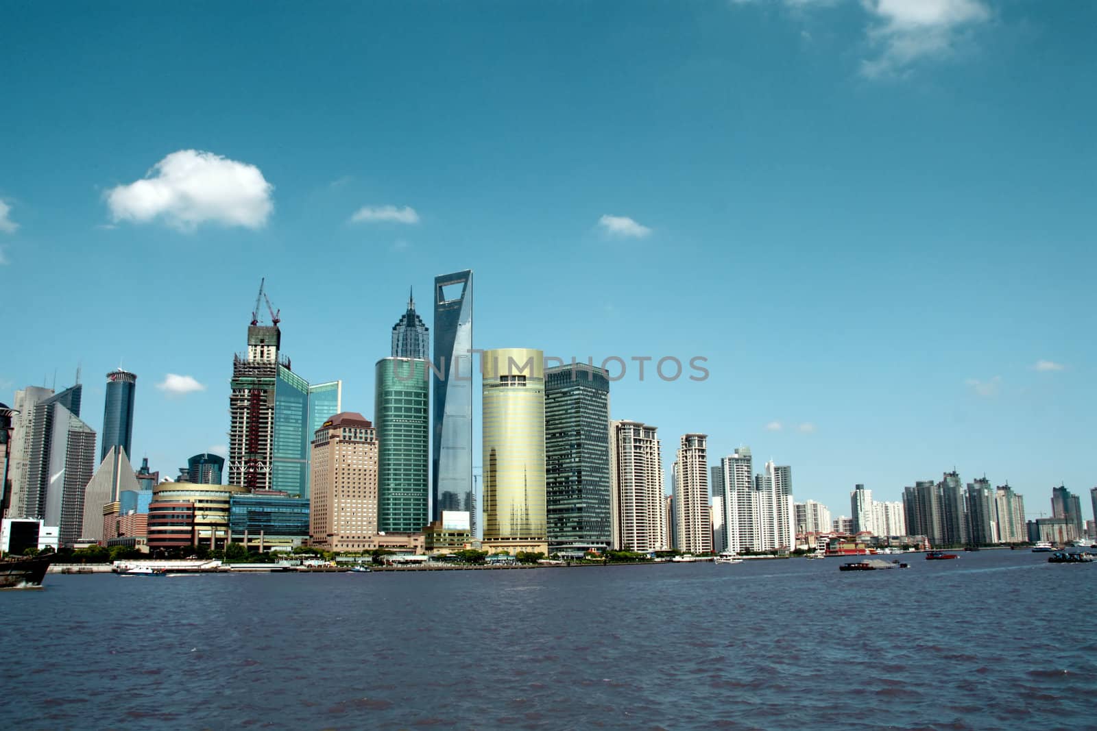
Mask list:
POLYGON ((201 150, 179 150, 148 174, 106 193, 114 221, 147 224, 162 218, 193 231, 200 224, 262 228, 274 203, 274 186, 256 165, 201 150))

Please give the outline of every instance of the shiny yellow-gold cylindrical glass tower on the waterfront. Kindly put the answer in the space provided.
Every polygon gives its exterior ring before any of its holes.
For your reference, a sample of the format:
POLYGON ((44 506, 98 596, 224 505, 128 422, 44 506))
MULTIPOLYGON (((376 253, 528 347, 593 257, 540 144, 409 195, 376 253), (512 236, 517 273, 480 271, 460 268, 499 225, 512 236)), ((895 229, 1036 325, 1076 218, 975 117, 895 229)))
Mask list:
POLYGON ((548 552, 544 353, 484 351, 484 549, 548 552))

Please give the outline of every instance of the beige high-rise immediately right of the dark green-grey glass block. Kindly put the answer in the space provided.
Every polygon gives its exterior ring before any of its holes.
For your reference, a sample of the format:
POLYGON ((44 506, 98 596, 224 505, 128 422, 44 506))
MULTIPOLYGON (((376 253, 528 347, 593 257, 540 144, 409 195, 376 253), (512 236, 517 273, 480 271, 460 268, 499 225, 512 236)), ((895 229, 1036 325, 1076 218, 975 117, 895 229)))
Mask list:
POLYGON ((613 507, 613 547, 656 551, 668 548, 669 495, 663 490, 663 464, 655 426, 636 421, 611 425, 610 478, 613 507))

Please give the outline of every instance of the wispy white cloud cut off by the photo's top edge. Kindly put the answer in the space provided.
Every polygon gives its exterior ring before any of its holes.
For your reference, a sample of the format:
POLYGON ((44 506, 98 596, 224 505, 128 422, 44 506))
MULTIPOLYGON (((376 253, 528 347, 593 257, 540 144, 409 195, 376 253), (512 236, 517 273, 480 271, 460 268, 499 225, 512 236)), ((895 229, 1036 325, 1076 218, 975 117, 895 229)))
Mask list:
POLYGON ((869 41, 882 46, 879 57, 861 61, 861 73, 872 79, 951 55, 962 27, 991 19, 983 0, 862 0, 862 4, 874 19, 869 41))

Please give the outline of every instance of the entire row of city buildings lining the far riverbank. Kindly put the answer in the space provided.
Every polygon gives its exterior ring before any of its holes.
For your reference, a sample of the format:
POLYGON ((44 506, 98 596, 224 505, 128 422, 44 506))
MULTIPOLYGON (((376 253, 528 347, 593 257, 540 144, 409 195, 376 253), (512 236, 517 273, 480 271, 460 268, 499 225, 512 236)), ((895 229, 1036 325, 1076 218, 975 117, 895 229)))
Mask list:
MULTIPOLYGON (((391 355, 375 364, 372 421, 343 411, 341 380, 310 385, 293 372, 278 312, 269 324, 253 312, 247 350, 233 359, 227 486, 225 457, 208 453, 190 457, 174 482, 160 481, 147 458, 134 469, 135 374, 106 375, 98 468, 79 382, 57 393, 19 390, 13 409, 0 404, 4 514, 36 521, 47 544, 56 530, 60 546, 272 550, 310 541, 576 558, 607 549, 781 553, 833 534, 949 546, 1086 533, 1081 499, 1065 487, 1052 491, 1052 517, 1026 522, 1024 498, 1008 484, 964 487, 954 470, 905 488, 902 501, 873 500, 857 484, 851 516, 833 518, 822 503, 794 501, 790 466, 769 460, 756 473, 745 446, 710 461, 703 433, 679 437, 667 494, 658 430, 611 419, 607 372, 545 368, 543 352, 529 347, 480 352, 477 491, 472 284, 470 270, 434 278, 433 359, 409 295, 391 355)), ((1097 511, 1097 488, 1090 500, 1097 511)))

